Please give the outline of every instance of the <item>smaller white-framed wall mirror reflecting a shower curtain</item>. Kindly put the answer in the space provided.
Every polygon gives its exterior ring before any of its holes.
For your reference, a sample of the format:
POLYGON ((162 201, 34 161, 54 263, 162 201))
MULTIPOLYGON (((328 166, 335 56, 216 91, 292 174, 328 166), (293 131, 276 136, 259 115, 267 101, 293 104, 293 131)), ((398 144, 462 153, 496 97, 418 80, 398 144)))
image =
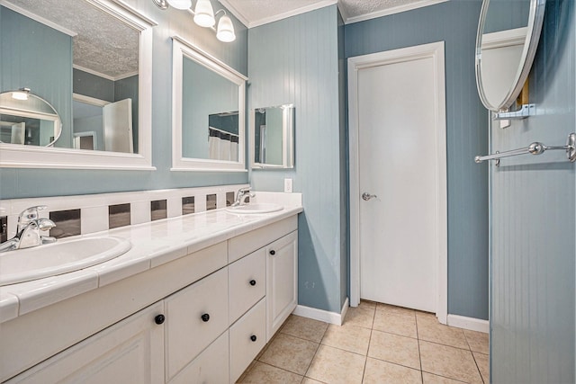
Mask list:
POLYGON ((247 77, 182 38, 172 40, 172 170, 247 172, 247 77))

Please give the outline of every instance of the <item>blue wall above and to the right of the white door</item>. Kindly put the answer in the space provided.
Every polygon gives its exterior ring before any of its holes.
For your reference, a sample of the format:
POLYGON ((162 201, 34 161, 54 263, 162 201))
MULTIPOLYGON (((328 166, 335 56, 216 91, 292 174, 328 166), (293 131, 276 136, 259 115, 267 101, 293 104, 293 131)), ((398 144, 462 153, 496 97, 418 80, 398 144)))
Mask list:
POLYGON ((488 318, 488 113, 476 92, 481 1, 450 1, 346 26, 346 57, 445 41, 448 313, 488 318))

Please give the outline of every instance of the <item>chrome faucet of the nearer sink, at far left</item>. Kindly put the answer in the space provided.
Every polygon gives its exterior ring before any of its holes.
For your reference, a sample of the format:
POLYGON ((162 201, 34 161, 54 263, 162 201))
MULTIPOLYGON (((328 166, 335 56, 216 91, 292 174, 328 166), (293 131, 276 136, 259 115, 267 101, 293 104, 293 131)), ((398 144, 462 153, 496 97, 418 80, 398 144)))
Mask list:
POLYGON ((54 243, 56 238, 41 236, 40 231, 47 231, 56 227, 54 221, 50 219, 40 219, 39 210, 46 210, 45 205, 31 207, 18 217, 18 228, 16 236, 0 244, 0 252, 13 251, 14 249, 30 248, 31 246, 40 246, 42 244, 54 243))

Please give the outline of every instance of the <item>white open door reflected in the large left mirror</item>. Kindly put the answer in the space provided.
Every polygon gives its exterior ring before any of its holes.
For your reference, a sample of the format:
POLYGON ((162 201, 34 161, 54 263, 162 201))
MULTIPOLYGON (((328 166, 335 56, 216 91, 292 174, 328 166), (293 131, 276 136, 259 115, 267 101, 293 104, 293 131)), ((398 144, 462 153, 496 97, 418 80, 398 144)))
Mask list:
POLYGON ((104 149, 112 152, 133 153, 132 100, 103 106, 104 149))

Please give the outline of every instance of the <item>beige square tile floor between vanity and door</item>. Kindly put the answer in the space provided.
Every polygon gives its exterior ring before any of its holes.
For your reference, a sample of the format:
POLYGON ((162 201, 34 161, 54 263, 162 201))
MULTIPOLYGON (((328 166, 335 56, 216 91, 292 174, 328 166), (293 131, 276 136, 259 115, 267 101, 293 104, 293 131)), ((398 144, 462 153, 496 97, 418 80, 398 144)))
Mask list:
POLYGON ((488 383, 488 335, 363 301, 343 326, 291 316, 238 383, 488 383))

